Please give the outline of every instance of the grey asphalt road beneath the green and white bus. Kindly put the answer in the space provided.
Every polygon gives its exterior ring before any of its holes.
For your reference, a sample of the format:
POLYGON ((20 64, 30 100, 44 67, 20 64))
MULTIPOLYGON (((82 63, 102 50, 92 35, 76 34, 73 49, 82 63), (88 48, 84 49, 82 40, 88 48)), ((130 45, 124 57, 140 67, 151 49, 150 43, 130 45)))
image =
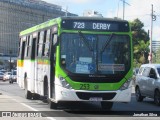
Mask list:
MULTIPOLYGON (((16 83, 9 84, 8 81, 0 81, 0 93, 2 93, 2 95, 11 97, 13 100, 12 104, 14 104, 14 102, 20 103, 23 105, 23 107, 27 107, 31 111, 41 111, 44 116, 49 118, 56 117, 56 119, 60 119, 63 117, 66 119, 67 117, 71 117, 72 119, 76 120, 83 117, 88 120, 93 117, 94 119, 105 119, 106 117, 110 117, 110 119, 120 120, 121 118, 119 117, 124 117, 127 119, 127 116, 131 117, 131 119, 138 120, 137 115, 142 115, 143 118, 145 115, 150 115, 150 117, 147 117, 147 119, 150 119, 151 116, 156 115, 156 113, 158 113, 160 117, 160 106, 156 106, 153 100, 149 98, 145 98, 143 102, 136 102, 134 93, 132 94, 132 100, 130 103, 114 103, 111 111, 103 111, 100 103, 98 102, 61 103, 58 109, 49 109, 48 103, 45 103, 41 100, 25 99, 24 90, 20 89, 16 83), (134 117, 134 115, 136 117, 134 117)), ((15 108, 14 111, 16 110, 17 108, 15 108)), ((1 107, 0 111, 2 111, 1 107)), ((24 111, 26 110, 24 109, 24 111)), ((158 119, 158 117, 154 117, 154 119, 158 119)))

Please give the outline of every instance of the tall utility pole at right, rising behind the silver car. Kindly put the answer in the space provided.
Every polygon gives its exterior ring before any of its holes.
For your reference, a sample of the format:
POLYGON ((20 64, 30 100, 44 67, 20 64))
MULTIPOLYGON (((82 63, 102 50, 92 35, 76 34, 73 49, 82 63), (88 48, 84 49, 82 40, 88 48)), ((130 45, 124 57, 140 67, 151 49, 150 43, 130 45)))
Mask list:
POLYGON ((151 5, 151 35, 150 35, 150 52, 148 56, 149 63, 152 63, 152 33, 153 33, 153 21, 156 21, 156 16, 153 14, 153 4, 151 5))

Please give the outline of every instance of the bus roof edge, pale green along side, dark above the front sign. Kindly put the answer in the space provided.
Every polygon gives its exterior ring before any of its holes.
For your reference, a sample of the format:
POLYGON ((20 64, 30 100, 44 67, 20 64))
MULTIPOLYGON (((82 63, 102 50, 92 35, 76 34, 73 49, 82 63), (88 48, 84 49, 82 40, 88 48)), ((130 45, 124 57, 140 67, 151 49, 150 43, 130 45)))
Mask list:
POLYGON ((24 35, 27 35, 29 33, 35 32, 37 30, 44 29, 46 27, 50 27, 52 25, 60 23, 62 20, 101 20, 101 21, 128 22, 126 20, 121 20, 121 19, 117 19, 117 18, 113 19, 113 18, 103 18, 103 17, 77 17, 77 16, 59 17, 59 18, 48 20, 44 23, 33 26, 31 28, 28 28, 24 31, 21 31, 19 36, 24 36, 24 35))

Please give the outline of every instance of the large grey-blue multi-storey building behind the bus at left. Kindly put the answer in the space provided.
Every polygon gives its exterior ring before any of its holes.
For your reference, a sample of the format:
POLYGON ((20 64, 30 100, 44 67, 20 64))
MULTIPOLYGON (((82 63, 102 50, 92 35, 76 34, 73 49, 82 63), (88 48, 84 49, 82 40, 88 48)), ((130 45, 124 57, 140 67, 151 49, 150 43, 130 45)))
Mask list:
POLYGON ((0 0, 0 55, 16 57, 20 31, 65 15, 61 6, 41 0, 0 0))

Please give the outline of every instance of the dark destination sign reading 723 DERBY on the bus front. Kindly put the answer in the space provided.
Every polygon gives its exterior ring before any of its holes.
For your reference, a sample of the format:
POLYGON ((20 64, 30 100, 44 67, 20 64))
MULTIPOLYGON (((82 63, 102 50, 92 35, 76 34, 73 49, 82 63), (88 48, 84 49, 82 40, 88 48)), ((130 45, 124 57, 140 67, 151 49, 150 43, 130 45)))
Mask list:
POLYGON ((63 20, 62 28, 75 30, 128 32, 127 22, 100 21, 100 20, 63 20))

